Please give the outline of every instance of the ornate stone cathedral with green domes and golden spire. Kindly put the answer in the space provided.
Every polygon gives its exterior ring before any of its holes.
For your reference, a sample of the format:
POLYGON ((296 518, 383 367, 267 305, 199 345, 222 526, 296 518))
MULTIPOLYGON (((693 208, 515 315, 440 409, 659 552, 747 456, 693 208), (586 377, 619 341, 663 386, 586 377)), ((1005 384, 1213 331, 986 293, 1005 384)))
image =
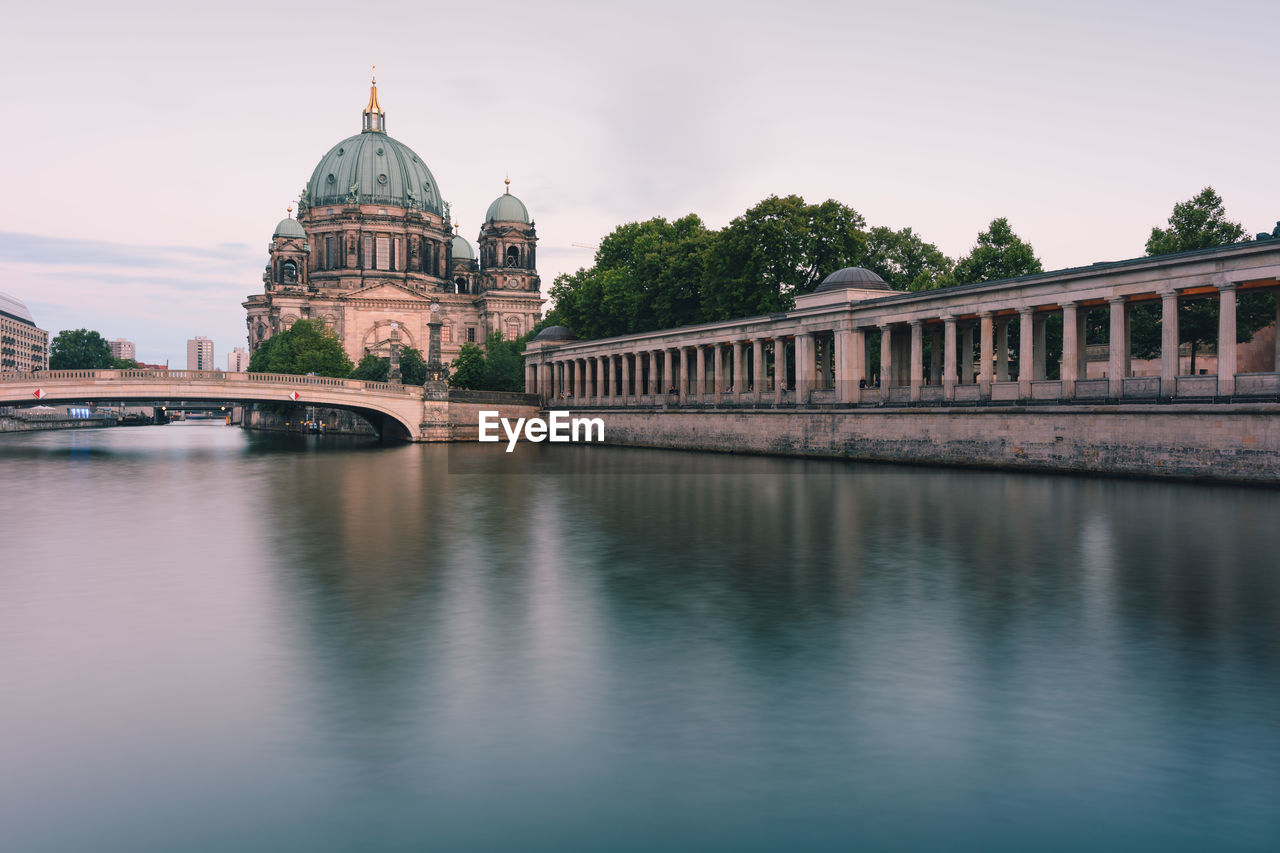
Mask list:
POLYGON ((262 292, 243 304, 250 350, 300 319, 320 319, 352 361, 387 355, 393 324, 402 345, 426 356, 433 305, 444 361, 492 332, 529 332, 543 305, 538 234, 509 184, 485 213, 477 252, 456 233, 422 159, 387 134, 375 81, 361 132, 329 149, 297 218, 271 234, 262 292))

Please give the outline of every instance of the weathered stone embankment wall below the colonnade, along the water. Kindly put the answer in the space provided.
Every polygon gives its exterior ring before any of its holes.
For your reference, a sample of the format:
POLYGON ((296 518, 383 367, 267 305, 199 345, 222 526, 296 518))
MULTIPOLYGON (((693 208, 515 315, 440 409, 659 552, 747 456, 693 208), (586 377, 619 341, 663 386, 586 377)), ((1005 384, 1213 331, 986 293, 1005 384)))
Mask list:
POLYGON ((575 409, 609 444, 1280 484, 1280 405, 575 409))

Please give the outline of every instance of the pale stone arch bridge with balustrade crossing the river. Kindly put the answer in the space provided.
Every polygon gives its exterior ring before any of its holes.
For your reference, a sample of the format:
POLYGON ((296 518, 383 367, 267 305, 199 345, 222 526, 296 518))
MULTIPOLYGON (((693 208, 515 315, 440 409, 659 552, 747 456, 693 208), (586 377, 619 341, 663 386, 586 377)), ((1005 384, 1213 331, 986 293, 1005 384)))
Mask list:
POLYGON ((353 411, 383 439, 424 441, 426 392, 360 379, 221 370, 42 370, 0 374, 0 405, 236 402, 324 406, 353 411))

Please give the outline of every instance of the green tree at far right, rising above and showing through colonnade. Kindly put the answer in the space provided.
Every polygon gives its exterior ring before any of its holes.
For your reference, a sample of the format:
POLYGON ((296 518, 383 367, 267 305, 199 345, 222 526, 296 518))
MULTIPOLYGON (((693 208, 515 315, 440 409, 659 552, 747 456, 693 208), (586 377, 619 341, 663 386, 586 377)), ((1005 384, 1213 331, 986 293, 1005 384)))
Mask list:
MULTIPOLYGON (((1147 255, 1169 255, 1197 248, 1226 246, 1245 240, 1244 227, 1226 218, 1226 207, 1213 187, 1204 187, 1193 199, 1174 205, 1169 228, 1152 228, 1147 238, 1147 255)), ((1183 298, 1178 301, 1178 339, 1190 345, 1192 373, 1196 356, 1206 345, 1217 345, 1219 301, 1212 297, 1183 298)), ((1243 343, 1253 333, 1275 320, 1275 296, 1270 293, 1240 293, 1236 301, 1236 342, 1243 343)), ((1158 304, 1133 309, 1130 318, 1130 346, 1133 355, 1151 359, 1160 355, 1161 310, 1158 304)))

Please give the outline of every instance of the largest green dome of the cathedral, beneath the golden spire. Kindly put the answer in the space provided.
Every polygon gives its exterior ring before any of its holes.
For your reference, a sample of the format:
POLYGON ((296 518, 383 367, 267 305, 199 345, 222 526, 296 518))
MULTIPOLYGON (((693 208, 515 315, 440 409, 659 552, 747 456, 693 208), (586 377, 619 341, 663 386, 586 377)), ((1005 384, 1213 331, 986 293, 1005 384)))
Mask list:
POLYGON ((347 137, 320 158, 307 182, 307 204, 344 204, 352 191, 361 204, 385 204, 440 213, 440 190, 421 158, 379 131, 347 137))

